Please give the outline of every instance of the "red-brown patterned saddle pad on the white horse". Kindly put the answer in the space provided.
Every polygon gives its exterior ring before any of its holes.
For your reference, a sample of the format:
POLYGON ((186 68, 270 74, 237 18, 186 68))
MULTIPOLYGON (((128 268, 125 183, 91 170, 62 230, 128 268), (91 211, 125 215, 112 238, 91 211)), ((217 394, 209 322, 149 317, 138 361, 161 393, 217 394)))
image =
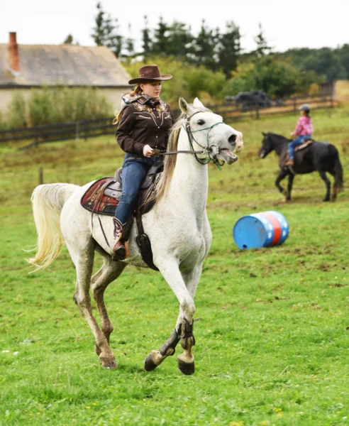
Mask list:
MULTIPOLYGON (((154 183, 160 178, 162 170, 162 161, 155 163, 140 185, 138 197, 140 198, 141 214, 149 212, 155 204, 155 198, 151 195, 153 194, 154 183)), ((82 196, 80 200, 82 207, 96 214, 114 216, 122 195, 121 175, 122 168, 119 168, 116 170, 115 176, 96 180, 82 196)))

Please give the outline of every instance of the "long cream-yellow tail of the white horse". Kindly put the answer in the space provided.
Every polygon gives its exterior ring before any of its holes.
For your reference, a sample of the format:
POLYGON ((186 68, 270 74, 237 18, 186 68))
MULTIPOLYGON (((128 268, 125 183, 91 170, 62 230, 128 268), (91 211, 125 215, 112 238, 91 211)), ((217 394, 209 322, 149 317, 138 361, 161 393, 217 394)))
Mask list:
POLYGON ((77 185, 70 183, 52 183, 39 185, 33 191, 31 200, 38 245, 35 247, 35 257, 27 260, 35 266, 34 271, 49 266, 60 253, 64 244, 60 229, 60 212, 76 189, 77 185))

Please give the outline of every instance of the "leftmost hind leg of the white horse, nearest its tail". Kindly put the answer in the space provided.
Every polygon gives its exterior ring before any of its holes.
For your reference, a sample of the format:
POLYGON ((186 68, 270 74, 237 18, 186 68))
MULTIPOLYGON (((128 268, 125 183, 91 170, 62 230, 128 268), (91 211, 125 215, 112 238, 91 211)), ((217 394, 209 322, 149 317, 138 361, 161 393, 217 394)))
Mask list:
POLYGON ((92 314, 91 297, 89 288, 91 285, 92 266, 94 262, 94 244, 91 242, 88 246, 84 246, 78 253, 67 242, 67 247, 72 256, 75 268, 77 270, 77 285, 74 293, 74 302, 79 306, 89 327, 92 329, 96 346, 100 349, 99 360, 104 368, 116 368, 115 357, 111 351, 108 340, 104 336, 101 329, 92 314))

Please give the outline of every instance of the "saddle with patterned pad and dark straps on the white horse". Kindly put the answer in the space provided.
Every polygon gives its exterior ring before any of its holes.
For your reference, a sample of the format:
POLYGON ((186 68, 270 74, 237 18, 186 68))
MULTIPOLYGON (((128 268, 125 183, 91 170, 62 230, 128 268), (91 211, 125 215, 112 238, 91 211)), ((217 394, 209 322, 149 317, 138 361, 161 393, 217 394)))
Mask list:
MULTIPOLYGON (((147 234, 145 234, 142 223, 142 215, 149 212, 150 209, 155 204, 155 182, 160 178, 162 171, 164 170, 163 158, 158 160, 152 167, 148 170, 148 174, 143 179, 140 185, 140 191, 138 192, 138 197, 135 201, 135 206, 133 212, 131 212, 130 217, 126 222, 123 240, 128 241, 131 234, 131 228, 133 224, 133 217, 135 216, 138 236, 137 244, 140 248, 140 254, 143 258, 143 261, 155 271, 159 271, 153 263, 153 252, 150 244, 150 239, 147 234)), ((89 210, 96 214, 105 214, 107 216, 114 216, 116 212, 116 207, 121 200, 122 195, 122 168, 116 170, 115 176, 101 178, 96 180, 84 193, 80 200, 80 204, 84 209, 89 210)), ((98 217, 99 219, 99 217, 98 217)), ((101 219, 99 219, 99 224, 101 230, 104 234, 104 229, 101 224, 101 219)), ((109 241, 104 234, 104 239, 106 244, 109 246, 109 241)))

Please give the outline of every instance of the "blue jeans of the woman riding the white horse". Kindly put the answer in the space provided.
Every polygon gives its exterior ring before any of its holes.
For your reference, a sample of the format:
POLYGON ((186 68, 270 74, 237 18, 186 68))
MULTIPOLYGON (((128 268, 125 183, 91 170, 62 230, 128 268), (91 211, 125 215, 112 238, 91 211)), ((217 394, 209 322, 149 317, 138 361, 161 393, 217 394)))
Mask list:
POLYGON ((142 180, 157 160, 158 158, 155 157, 143 157, 130 153, 126 153, 123 158, 123 193, 115 212, 116 219, 122 224, 126 224, 131 214, 142 180))

